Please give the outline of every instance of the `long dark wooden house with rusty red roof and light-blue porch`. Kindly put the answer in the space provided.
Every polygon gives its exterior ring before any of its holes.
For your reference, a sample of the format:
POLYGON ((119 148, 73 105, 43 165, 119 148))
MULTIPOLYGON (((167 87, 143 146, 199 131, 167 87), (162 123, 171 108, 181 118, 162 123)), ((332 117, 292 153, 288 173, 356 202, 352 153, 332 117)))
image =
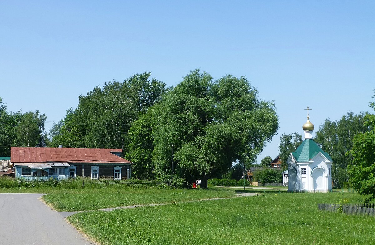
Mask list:
POLYGON ((131 162, 122 149, 12 147, 10 161, 16 178, 130 178, 131 162))

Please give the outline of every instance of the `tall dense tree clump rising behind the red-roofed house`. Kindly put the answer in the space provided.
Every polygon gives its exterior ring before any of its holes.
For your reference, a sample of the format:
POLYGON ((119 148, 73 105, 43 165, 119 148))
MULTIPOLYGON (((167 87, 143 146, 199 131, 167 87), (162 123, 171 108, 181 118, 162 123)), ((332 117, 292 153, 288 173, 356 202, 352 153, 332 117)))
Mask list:
POLYGON ((165 83, 150 76, 150 72, 136 74, 123 83, 108 82, 81 95, 77 109, 68 110, 54 125, 52 145, 121 148, 127 152, 131 124, 165 91, 165 83))

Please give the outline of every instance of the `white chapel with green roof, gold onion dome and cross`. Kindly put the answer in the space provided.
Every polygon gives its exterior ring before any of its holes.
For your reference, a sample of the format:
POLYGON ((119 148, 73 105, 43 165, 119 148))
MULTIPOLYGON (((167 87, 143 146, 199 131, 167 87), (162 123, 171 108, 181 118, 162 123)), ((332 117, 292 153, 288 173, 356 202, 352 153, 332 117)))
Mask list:
POLYGON ((288 191, 329 192, 332 191, 332 158, 312 139, 314 124, 309 120, 303 124, 305 139, 289 155, 288 191))

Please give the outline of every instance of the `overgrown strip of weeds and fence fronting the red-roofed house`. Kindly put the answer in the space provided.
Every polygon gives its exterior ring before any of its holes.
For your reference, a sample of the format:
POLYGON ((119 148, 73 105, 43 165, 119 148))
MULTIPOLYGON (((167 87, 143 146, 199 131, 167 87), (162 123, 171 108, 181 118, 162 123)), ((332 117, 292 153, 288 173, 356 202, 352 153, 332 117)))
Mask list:
POLYGON ((0 177, 0 188, 28 188, 28 187, 57 187, 66 189, 78 188, 124 188, 124 187, 158 187, 170 186, 169 181, 144 181, 144 180, 95 180, 90 178, 75 178, 75 179, 48 179, 48 180, 31 180, 15 179, 8 176, 0 177))

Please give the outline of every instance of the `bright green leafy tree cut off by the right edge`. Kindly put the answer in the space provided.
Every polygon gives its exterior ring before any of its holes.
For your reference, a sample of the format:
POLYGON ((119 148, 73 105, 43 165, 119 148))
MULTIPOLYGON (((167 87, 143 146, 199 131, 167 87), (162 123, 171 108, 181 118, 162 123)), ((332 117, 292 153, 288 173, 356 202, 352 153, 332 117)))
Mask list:
MULTIPOLYGON (((370 106, 375 110, 375 102, 370 106)), ((368 131, 354 136, 353 148, 347 154, 352 159, 348 164, 348 172, 350 184, 360 194, 369 195, 365 199, 369 202, 375 198, 375 115, 368 114, 364 119, 368 131)))

